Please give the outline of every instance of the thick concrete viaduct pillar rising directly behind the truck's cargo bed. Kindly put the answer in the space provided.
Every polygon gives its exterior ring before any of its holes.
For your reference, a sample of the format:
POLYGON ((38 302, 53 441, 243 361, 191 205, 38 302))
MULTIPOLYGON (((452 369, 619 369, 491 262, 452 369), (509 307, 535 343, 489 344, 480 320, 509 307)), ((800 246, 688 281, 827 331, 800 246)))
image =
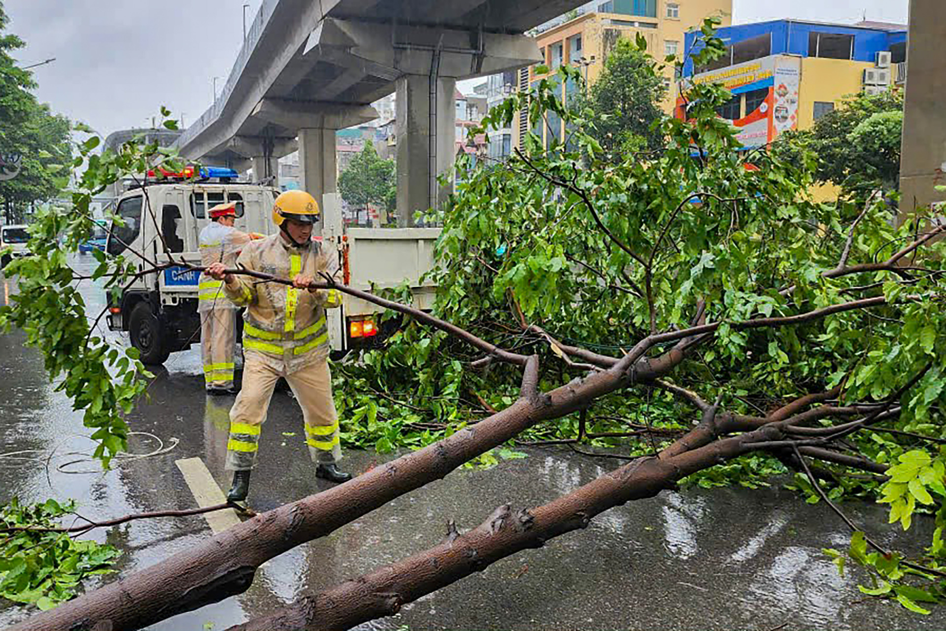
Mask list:
POLYGON ((456 79, 426 75, 397 79, 397 225, 439 207, 453 188, 456 79), (432 85, 431 85, 432 83, 432 85), (447 175, 448 183, 437 183, 447 175))

